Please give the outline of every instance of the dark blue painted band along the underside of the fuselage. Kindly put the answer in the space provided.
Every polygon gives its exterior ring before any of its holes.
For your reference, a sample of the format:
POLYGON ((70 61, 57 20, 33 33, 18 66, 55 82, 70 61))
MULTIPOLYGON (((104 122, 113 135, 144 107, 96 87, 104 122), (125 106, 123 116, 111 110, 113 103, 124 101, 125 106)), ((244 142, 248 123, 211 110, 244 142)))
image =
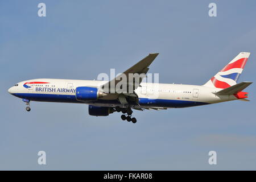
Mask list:
MULTIPOLYGON (((40 93, 15 93, 13 94, 19 98, 25 98, 31 101, 42 102, 68 102, 68 103, 84 103, 76 100, 73 95, 60 95, 60 94, 40 94, 40 93)), ((87 102, 86 104, 120 104, 118 100, 97 100, 87 102)), ((164 99, 150 99, 139 98, 139 105, 141 106, 155 106, 155 107, 191 107, 207 105, 206 102, 196 101, 183 101, 183 100, 164 100, 164 99)))

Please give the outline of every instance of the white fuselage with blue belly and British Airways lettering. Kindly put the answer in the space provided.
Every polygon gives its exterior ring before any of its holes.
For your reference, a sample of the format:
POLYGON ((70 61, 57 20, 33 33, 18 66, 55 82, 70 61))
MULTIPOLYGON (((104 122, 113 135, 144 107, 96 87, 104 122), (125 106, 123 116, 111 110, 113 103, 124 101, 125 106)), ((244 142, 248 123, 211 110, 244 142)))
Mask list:
MULTIPOLYGON (((76 88, 79 86, 97 87, 104 81, 64 80, 40 78, 22 81, 9 89, 16 97, 30 101, 85 103, 96 106, 122 106, 118 96, 103 97, 97 101, 81 102, 76 100, 76 88)), ((135 107, 190 107, 237 100, 233 95, 216 96, 221 89, 200 85, 151 84, 141 83, 135 90, 139 97, 139 106, 135 107)))

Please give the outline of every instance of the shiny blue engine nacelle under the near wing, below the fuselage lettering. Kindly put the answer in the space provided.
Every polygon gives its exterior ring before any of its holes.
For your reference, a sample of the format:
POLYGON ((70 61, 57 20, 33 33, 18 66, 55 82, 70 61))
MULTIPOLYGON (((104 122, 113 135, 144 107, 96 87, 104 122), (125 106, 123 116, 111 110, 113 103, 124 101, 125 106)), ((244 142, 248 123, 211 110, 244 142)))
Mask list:
POLYGON ((104 94, 94 87, 79 86, 76 88, 77 101, 96 101, 98 98, 103 97, 104 94))

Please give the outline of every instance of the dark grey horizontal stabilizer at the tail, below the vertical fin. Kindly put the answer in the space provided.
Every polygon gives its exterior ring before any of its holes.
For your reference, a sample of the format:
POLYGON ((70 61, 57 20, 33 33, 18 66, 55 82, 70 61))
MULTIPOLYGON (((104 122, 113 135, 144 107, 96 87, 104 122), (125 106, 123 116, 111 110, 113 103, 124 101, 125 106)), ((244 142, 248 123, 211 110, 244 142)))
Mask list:
POLYGON ((253 82, 249 82, 249 81, 243 81, 239 84, 230 86, 229 88, 220 90, 214 94, 216 95, 232 95, 232 94, 237 94, 238 92, 241 92, 243 89, 245 89, 247 86, 249 86, 250 84, 252 84, 253 82))

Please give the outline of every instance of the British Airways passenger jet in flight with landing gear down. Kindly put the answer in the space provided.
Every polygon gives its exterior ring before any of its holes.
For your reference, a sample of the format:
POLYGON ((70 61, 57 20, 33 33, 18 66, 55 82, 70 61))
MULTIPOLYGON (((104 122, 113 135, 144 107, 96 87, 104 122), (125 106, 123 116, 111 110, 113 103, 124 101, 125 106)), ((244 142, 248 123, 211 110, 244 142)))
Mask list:
POLYGON ((142 82, 143 77, 139 77, 137 82, 134 81, 139 74, 147 74, 148 67, 156 56, 158 53, 150 53, 121 74, 137 74, 133 80, 123 80, 132 88, 129 93, 122 92, 127 85, 123 88, 121 86, 121 90, 113 89, 122 80, 120 75, 110 81, 52 78, 26 80, 18 82, 9 88, 8 92, 22 98, 27 105, 27 111, 31 110, 30 101, 80 103, 89 105, 89 115, 107 116, 114 112, 122 112, 121 119, 133 123, 137 122, 135 117, 131 117, 133 109, 166 110, 233 100, 249 101, 246 99, 248 93, 242 90, 252 82, 244 81, 237 84, 237 81, 250 52, 239 53, 204 85, 148 83, 142 82), (106 88, 113 92, 105 92, 106 88))

